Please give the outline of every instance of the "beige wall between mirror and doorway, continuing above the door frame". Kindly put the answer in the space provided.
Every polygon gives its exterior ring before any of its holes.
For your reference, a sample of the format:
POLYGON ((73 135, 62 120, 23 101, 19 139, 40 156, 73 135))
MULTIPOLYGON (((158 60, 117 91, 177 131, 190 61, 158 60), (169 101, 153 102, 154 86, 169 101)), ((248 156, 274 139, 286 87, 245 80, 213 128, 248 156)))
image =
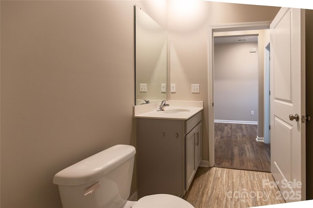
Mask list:
MULTIPOLYGON (((279 7, 193 2, 189 1, 185 7, 175 1, 168 3, 170 83, 176 83, 176 93, 169 97, 171 100, 204 101, 202 160, 208 160, 208 26, 272 21, 279 7), (199 94, 191 93, 192 83, 200 84, 199 94)), ((259 90, 263 95, 263 88, 259 90)), ((259 111, 259 115, 262 114, 263 111, 259 111)))

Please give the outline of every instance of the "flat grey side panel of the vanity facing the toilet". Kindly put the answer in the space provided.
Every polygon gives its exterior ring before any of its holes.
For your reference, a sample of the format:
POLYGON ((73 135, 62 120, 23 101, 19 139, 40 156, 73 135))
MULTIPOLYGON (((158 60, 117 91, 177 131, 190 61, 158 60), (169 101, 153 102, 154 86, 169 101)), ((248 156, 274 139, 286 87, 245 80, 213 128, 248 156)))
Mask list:
POLYGON ((137 119, 138 196, 183 196, 184 121, 137 119))

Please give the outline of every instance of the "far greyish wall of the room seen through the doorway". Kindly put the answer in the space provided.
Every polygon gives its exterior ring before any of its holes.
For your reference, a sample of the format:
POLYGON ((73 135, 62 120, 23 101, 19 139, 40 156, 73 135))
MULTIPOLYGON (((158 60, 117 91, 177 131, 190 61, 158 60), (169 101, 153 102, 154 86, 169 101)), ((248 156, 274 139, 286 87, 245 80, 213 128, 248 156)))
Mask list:
POLYGON ((258 122, 258 52, 250 48, 258 43, 214 45, 215 120, 258 122))

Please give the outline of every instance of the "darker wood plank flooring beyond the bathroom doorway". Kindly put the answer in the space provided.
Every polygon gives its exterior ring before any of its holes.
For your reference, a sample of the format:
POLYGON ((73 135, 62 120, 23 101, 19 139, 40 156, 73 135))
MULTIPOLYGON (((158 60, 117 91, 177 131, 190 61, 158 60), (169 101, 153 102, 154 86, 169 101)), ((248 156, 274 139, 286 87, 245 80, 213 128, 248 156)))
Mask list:
POLYGON ((215 166, 270 172, 270 145, 257 125, 215 123, 215 166))

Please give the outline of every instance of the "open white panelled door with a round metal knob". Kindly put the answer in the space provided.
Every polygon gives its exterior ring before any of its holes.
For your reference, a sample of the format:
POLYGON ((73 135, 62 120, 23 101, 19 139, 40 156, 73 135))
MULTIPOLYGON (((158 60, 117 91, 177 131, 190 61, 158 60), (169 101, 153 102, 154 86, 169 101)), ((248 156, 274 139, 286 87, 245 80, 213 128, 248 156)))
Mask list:
POLYGON ((270 24, 271 172, 287 202, 306 199, 304 15, 281 8, 270 24))

